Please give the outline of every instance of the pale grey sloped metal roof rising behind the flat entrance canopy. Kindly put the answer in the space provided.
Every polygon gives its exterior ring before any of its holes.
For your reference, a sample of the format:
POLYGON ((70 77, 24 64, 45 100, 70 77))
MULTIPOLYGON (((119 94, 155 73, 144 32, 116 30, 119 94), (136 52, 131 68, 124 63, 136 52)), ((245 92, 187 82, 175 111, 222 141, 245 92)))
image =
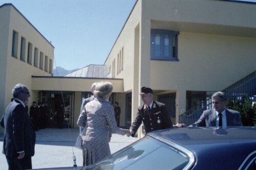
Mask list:
POLYGON ((88 65, 64 77, 109 78, 108 76, 108 67, 106 65, 88 65))

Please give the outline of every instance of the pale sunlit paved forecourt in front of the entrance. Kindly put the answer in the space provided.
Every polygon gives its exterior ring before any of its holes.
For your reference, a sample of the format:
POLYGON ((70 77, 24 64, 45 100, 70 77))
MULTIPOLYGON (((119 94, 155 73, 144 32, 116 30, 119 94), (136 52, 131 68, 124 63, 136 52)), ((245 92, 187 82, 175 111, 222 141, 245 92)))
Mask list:
MULTIPOLYGON (((73 155, 76 157, 76 164, 82 166, 82 151, 73 147, 78 134, 78 128, 46 128, 36 131, 35 155, 32 157, 33 169, 73 166, 73 155)), ((5 155, 2 154, 3 136, 0 134, 0 169, 8 169, 5 155)), ((110 142, 111 153, 136 140, 137 137, 113 134, 110 142)))

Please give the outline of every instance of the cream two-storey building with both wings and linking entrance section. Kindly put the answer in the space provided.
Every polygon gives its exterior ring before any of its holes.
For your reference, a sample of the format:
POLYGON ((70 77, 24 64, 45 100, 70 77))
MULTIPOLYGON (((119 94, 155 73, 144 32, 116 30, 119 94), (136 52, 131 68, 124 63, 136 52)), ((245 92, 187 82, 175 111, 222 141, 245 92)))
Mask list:
POLYGON ((12 98, 12 87, 24 83, 32 91, 31 103, 54 99, 54 105, 64 93, 69 99, 70 124, 76 127, 81 99, 91 95, 91 84, 110 81, 114 85, 111 102, 117 101, 121 107, 120 126, 129 128, 133 122, 142 104, 141 86, 153 89, 155 100, 167 105, 176 124, 180 114, 200 107, 212 92, 256 70, 253 3, 138 0, 104 62, 108 78, 52 77, 51 43, 14 6, 1 6, 0 14, 4 30, 0 33, 1 84, 5 87, 0 90, 5 96, 0 99, 2 113, 12 98))

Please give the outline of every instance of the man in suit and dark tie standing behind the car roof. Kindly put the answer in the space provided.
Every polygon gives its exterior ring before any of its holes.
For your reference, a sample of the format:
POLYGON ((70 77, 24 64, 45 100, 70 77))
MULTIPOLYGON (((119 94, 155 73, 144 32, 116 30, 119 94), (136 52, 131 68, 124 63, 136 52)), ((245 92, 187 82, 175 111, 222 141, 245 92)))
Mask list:
MULTIPOLYGON (((243 126, 241 115, 236 110, 225 108, 227 97, 224 92, 218 91, 211 96, 213 108, 205 110, 193 127, 227 127, 243 126)), ((180 127, 186 127, 185 124, 177 124, 180 127)))

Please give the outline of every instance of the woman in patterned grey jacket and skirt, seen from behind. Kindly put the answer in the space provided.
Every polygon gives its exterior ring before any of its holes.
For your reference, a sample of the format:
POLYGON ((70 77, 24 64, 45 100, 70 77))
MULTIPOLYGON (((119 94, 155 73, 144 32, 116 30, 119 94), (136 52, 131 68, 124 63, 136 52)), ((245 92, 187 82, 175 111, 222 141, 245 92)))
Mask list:
POLYGON ((96 163, 111 154, 110 130, 112 133, 131 136, 128 129, 121 129, 116 125, 114 109, 109 102, 112 90, 110 82, 97 83, 93 92, 95 99, 84 106, 78 118, 77 125, 84 128, 83 166, 96 163))

